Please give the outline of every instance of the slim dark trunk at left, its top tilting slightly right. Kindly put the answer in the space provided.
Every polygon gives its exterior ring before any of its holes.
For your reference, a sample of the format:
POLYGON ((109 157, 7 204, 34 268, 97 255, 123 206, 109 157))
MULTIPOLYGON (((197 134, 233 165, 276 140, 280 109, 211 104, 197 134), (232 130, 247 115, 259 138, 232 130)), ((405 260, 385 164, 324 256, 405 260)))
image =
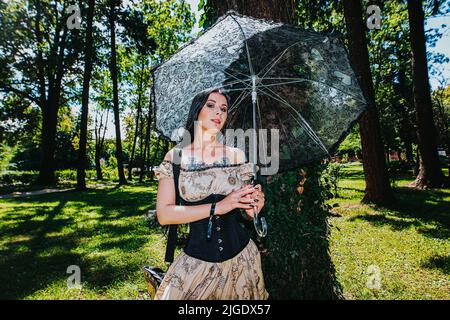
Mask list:
POLYGON ((87 131, 89 113, 89 83, 92 75, 92 23, 94 20, 95 0, 89 0, 87 11, 87 28, 85 43, 85 61, 83 75, 83 94, 81 103, 80 121, 80 145, 78 150, 78 170, 77 170, 77 190, 86 189, 86 168, 87 168, 87 131))

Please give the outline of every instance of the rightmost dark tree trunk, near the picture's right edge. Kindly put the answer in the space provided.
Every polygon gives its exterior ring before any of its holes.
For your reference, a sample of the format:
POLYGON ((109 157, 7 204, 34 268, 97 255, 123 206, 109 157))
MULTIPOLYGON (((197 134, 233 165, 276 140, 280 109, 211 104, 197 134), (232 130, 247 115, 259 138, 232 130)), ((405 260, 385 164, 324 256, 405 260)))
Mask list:
POLYGON ((444 174, 437 152, 437 131, 433 120, 425 45, 422 2, 408 0, 409 28, 412 48, 414 105, 416 107, 417 143, 421 155, 419 174, 413 186, 439 188, 444 174))

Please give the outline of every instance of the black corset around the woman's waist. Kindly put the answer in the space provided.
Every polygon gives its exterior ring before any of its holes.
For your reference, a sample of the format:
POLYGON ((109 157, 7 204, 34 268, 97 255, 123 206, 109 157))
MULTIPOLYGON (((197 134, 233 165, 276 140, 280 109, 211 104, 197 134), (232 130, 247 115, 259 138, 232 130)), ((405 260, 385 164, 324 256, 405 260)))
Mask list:
MULTIPOLYGON (((181 198, 181 205, 194 206, 205 203, 219 202, 226 196, 211 194, 200 201, 186 201, 181 198)), ((189 238, 184 252, 194 258, 208 262, 222 262, 233 258, 250 241, 247 232, 239 224, 243 220, 239 209, 221 216, 213 217, 212 235, 206 238, 209 217, 189 224, 189 238)))

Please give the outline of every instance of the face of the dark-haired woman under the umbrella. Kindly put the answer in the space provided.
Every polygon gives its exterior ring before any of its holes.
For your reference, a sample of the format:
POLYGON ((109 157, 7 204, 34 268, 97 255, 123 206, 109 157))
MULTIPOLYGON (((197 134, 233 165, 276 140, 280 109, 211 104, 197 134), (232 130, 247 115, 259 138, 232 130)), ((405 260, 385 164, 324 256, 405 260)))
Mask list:
POLYGON ((228 116, 227 98, 221 93, 213 92, 209 95, 203 108, 198 114, 203 131, 218 133, 224 126, 228 116))

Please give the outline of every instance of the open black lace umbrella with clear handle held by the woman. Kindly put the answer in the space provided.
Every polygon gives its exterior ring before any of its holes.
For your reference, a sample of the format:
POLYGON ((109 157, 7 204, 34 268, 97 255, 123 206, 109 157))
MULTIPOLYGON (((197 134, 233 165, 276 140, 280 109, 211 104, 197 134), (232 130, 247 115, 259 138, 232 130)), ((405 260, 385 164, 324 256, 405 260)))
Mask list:
MULTIPOLYGON (((339 36, 235 11, 155 66, 152 75, 156 130, 174 142, 182 140, 179 128, 194 96, 213 87, 232 98, 227 128, 277 130, 275 151, 271 141, 252 135, 254 181, 256 165, 262 174, 270 166, 269 150, 278 157, 277 172, 331 157, 366 110, 339 36)), ((253 221, 258 235, 265 236, 264 218, 255 211, 253 221)))

